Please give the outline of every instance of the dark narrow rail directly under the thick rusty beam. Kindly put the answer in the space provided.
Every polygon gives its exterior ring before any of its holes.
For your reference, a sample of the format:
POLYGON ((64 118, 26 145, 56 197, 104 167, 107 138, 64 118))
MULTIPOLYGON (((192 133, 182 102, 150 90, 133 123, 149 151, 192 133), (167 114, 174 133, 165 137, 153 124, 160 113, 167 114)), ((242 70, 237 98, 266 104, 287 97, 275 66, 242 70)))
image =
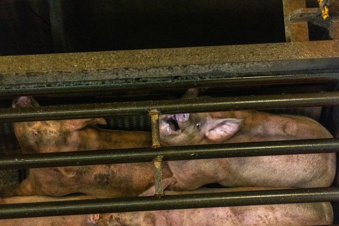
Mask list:
MULTIPOLYGON (((333 70, 333 69, 332 69, 333 70)), ((0 96, 19 95, 42 95, 42 94, 67 94, 87 92, 109 93, 120 90, 154 89, 154 88, 190 88, 194 87, 234 87, 234 86, 256 86, 256 85, 284 85, 284 84, 308 84, 308 83, 335 83, 339 73, 337 69, 333 73, 328 73, 330 69, 317 70, 315 74, 294 74, 294 75, 265 75, 260 76, 247 74, 205 74, 143 78, 143 82, 138 79, 115 79, 96 81, 69 81, 63 83, 25 83, 25 84, 0 84, 0 96), (321 74, 319 71, 322 71, 321 74), (1 88, 3 87, 3 88, 1 88)))

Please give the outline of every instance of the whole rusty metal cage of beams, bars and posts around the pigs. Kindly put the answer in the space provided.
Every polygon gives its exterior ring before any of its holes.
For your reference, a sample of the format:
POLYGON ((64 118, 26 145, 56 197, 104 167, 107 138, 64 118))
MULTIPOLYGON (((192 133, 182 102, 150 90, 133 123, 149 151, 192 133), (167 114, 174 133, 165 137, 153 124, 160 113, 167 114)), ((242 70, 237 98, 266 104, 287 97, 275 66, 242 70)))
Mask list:
MULTIPOLYGON (((158 147, 158 115, 180 112, 278 108, 279 112, 300 112, 300 107, 322 106, 319 122, 336 132, 337 19, 331 22, 331 40, 310 42, 303 32, 318 9, 305 10, 305 1, 296 1, 299 5, 292 1, 283 1, 286 43, 0 57, 3 128, 10 128, 10 122, 105 117, 112 122, 110 128, 152 130, 154 146, 95 154, 12 153, 1 157, 0 169, 339 152, 337 139, 158 147), (213 97, 178 99, 191 87, 209 87, 207 94, 213 97), (9 108, 19 95, 37 96, 43 106, 9 108)), ((49 2, 55 32, 63 22, 53 19, 59 6, 49 2)), ((55 45, 65 48, 63 38, 54 38, 55 45)), ((11 143, 13 131, 8 130, 4 133, 12 134, 11 143)), ((0 205, 0 218, 320 201, 331 201, 339 215, 339 187, 334 184, 329 188, 160 196, 159 167, 155 167, 155 178, 158 195, 154 197, 6 204, 0 205)))

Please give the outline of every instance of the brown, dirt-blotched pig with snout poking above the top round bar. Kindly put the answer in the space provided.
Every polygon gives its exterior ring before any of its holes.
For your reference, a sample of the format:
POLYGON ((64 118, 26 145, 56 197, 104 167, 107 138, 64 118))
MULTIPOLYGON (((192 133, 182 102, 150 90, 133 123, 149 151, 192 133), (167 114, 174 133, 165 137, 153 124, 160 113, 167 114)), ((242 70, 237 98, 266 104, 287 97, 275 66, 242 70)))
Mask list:
MULTIPOLYGON (((13 107, 32 106, 39 106, 32 97, 20 97, 13 102, 13 107)), ((13 126, 24 154, 152 145, 150 132, 95 127, 105 123, 104 119, 80 119, 14 123, 13 126)), ((169 176, 166 170, 164 172, 169 176)), ((150 162, 36 168, 30 169, 29 176, 17 189, 4 196, 60 196, 81 192, 95 197, 124 197, 139 195, 153 184, 153 164, 150 162)))

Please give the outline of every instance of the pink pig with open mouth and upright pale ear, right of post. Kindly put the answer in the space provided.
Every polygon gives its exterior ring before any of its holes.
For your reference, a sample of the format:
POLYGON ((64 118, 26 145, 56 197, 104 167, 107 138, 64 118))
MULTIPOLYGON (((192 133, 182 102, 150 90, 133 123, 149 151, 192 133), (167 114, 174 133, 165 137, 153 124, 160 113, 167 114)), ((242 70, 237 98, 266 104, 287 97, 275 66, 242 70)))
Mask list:
MULTIPOLYGON (((184 97, 197 93, 190 89, 184 97)), ((161 115, 159 125, 162 146, 332 138, 309 118, 256 110, 161 115)), ((190 190, 207 183, 328 187, 335 165, 335 153, 168 161, 172 178, 164 185, 169 190, 190 190)))

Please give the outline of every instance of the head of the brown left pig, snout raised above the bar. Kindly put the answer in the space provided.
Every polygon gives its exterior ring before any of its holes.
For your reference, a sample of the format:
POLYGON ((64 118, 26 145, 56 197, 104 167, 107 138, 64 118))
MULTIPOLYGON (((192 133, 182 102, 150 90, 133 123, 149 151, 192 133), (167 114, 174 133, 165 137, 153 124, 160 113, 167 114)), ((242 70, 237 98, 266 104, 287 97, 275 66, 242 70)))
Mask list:
MULTIPOLYGON (((12 107, 37 107, 39 103, 32 97, 22 96, 13 101, 12 107)), ((102 118, 37 121, 13 123, 14 131, 24 154, 60 151, 90 150, 94 143, 83 139, 84 128, 105 125, 102 118)))

